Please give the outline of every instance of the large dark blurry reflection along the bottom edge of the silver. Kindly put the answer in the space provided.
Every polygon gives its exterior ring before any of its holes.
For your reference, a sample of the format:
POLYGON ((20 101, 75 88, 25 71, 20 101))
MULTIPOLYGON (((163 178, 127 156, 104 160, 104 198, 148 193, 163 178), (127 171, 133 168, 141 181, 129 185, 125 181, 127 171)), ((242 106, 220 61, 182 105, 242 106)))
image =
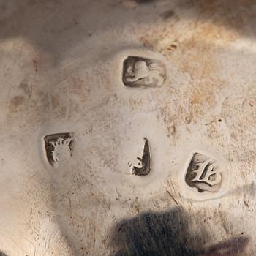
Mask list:
POLYGON ((211 236, 203 225, 198 227, 189 229, 189 218, 178 207, 125 219, 113 227, 112 256, 238 256, 249 242, 248 236, 235 236, 206 246, 211 236))

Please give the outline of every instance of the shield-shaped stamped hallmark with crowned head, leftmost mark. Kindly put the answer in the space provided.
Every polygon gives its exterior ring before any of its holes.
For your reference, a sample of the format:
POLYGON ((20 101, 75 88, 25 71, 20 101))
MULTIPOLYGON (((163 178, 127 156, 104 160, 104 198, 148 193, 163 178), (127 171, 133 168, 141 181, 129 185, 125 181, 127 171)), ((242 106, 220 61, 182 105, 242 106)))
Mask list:
POLYGON ((49 164, 53 168, 58 168, 59 165, 67 163, 73 151, 72 132, 46 135, 44 140, 49 164))

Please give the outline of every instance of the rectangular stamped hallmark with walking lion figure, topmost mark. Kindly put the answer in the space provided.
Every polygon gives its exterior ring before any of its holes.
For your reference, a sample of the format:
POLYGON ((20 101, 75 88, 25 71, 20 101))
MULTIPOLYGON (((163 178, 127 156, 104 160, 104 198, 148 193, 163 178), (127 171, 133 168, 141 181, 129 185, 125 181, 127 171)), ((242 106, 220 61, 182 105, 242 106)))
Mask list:
POLYGON ((124 60, 123 83, 129 87, 158 87, 165 83, 165 65, 161 61, 129 56, 124 60))

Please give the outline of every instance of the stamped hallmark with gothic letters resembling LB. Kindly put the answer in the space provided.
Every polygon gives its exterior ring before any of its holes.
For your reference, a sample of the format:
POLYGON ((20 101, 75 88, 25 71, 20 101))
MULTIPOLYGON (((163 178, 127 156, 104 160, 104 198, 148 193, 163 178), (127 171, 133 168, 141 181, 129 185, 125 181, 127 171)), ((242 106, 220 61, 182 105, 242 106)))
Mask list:
POLYGON ((189 162, 185 180, 189 187, 195 187, 198 192, 217 192, 222 183, 222 173, 214 159, 195 153, 189 162))

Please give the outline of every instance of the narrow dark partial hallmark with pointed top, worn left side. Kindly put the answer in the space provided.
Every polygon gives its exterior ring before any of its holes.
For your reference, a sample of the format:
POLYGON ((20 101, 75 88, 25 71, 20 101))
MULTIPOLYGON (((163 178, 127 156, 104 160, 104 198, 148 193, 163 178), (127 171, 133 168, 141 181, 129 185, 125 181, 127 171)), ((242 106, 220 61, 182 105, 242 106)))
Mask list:
POLYGON ((142 167, 132 167, 132 173, 139 176, 148 175, 151 171, 151 156, 150 156, 150 149, 148 140, 144 138, 145 144, 143 149, 143 156, 142 158, 138 158, 141 161, 142 167))

